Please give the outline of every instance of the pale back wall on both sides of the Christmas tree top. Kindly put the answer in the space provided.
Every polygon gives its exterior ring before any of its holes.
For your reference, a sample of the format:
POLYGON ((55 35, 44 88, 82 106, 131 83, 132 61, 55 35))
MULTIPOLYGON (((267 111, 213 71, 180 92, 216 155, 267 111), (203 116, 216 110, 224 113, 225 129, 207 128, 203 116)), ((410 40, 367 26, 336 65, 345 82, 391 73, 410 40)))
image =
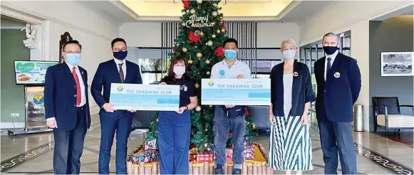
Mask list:
MULTIPOLYGON (((125 38, 130 47, 161 47, 161 22, 124 23, 119 36, 125 38)), ((299 43, 296 23, 257 23, 258 48, 279 48, 286 38, 299 43)))

